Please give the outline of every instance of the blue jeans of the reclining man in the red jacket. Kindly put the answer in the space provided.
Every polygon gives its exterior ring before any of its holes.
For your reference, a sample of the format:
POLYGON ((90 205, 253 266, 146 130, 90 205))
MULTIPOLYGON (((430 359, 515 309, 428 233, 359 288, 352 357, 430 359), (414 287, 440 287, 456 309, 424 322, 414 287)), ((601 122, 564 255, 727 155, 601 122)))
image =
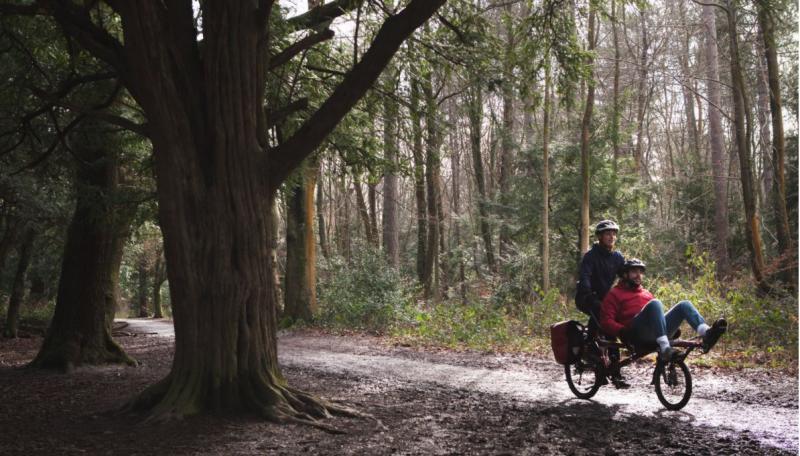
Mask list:
POLYGON ((626 332, 635 343, 655 343, 656 338, 660 336, 672 337, 684 321, 689 323, 695 331, 698 326, 705 323, 703 317, 689 301, 675 304, 665 314, 661 301, 653 299, 633 317, 626 332))

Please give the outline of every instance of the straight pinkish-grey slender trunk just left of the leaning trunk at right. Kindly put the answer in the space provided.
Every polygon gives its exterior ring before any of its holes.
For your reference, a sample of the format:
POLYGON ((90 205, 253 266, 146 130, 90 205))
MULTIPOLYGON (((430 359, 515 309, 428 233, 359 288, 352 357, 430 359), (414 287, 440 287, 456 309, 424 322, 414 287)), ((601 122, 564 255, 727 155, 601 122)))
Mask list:
POLYGON ((708 92, 708 145, 711 150, 711 170, 714 177, 714 259, 717 263, 717 276, 725 277, 729 270, 728 261, 728 183, 723 146, 722 96, 719 83, 719 58, 717 51, 717 19, 715 7, 703 6, 703 26, 705 28, 706 90, 708 92))

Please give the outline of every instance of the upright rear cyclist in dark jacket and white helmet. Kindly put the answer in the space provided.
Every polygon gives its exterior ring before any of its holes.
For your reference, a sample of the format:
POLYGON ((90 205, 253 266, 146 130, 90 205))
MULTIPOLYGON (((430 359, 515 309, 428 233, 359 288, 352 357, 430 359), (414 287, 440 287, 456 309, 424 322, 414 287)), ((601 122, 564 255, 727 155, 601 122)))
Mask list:
MULTIPOLYGON (((614 250, 618 233, 619 225, 613 220, 599 222, 594 229, 597 242, 583 255, 581 260, 575 304, 578 310, 590 317, 589 330, 593 332, 598 328, 598 317, 603 298, 614 285, 617 270, 625 263, 622 254, 618 250, 614 250)), ((619 358, 618 349, 613 350, 610 354, 614 358, 619 358)), ((629 386, 619 370, 612 372, 610 377, 617 388, 629 386)))

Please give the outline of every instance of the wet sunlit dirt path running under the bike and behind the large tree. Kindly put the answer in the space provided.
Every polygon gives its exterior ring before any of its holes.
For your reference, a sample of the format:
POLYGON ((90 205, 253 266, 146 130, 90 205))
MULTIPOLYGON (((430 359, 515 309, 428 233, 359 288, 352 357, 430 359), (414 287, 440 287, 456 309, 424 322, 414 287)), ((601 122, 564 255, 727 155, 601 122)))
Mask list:
MULTIPOLYGON (((174 336, 168 322, 127 322, 132 331, 174 336)), ((720 373, 695 368, 691 401, 680 412, 668 412, 649 385, 652 365, 648 362, 628 368, 631 389, 604 387, 594 400, 579 401, 567 389, 560 366, 532 357, 420 352, 387 347, 377 338, 295 333, 279 338, 279 359, 288 372, 355 378, 358 388, 367 390, 387 392, 413 385, 419 394, 431 391, 428 394, 434 396, 434 401, 437 394, 446 399, 455 393, 539 410, 564 409, 583 416, 586 423, 602 427, 603 421, 609 420, 619 425, 612 429, 621 426, 618 434, 623 441, 652 436, 647 428, 655 422, 680 433, 692 428, 710 444, 686 448, 690 453, 703 453, 703 449, 726 453, 727 447, 738 453, 754 442, 761 447, 759 451, 798 451, 797 380, 765 371, 720 373), (433 385, 436 388, 431 388, 433 385), (641 432, 636 431, 637 427, 642 428, 641 432)), ((342 399, 347 400, 347 395, 342 399)), ((435 429, 436 417, 431 421, 429 426, 435 429)))

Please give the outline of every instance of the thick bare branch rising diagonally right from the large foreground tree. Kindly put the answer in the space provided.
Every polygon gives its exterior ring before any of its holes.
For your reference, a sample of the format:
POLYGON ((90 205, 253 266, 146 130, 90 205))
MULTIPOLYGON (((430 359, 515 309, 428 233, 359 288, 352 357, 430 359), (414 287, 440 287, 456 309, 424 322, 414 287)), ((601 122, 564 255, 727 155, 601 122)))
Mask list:
POLYGON ((378 30, 372 45, 333 93, 283 144, 269 151, 265 171, 272 185, 280 185, 336 128, 367 93, 400 45, 430 18, 445 0, 412 0, 378 30))

